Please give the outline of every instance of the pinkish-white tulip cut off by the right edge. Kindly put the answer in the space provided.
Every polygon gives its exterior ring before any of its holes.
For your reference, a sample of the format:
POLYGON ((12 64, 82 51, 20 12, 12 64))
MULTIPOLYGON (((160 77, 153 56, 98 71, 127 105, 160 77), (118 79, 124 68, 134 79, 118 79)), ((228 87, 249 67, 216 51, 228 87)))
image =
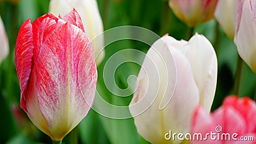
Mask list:
POLYGON ((244 0, 239 3, 239 13, 234 42, 241 58, 256 73, 256 1, 244 0))

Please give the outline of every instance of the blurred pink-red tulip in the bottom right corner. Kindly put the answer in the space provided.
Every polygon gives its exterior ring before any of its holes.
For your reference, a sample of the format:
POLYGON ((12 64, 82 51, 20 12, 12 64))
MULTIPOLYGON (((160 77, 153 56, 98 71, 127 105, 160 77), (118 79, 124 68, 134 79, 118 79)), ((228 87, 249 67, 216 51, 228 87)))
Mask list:
POLYGON ((191 144, 255 144, 256 138, 256 103, 248 97, 238 98, 230 96, 225 98, 223 105, 216 109, 214 113, 207 113, 204 108, 198 106, 193 114, 191 123, 191 135, 201 133, 203 138, 205 134, 214 132, 222 136, 222 140, 216 137, 208 137, 207 140, 191 140, 191 144), (230 134, 230 139, 224 137, 224 134, 230 134), (235 134, 232 138, 232 134, 235 134), (241 136, 250 136, 254 141, 242 141, 241 136), (240 141, 241 140, 241 141, 240 141))

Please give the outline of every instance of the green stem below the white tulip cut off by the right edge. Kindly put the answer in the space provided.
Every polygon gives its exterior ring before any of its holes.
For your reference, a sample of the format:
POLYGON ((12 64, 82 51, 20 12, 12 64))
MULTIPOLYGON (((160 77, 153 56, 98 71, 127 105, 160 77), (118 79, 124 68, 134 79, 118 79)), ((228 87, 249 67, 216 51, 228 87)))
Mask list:
POLYGON ((238 55, 237 56, 237 63, 236 63, 236 75, 235 75, 235 86, 234 86, 234 95, 239 95, 239 88, 241 83, 241 76, 243 72, 243 60, 238 55))

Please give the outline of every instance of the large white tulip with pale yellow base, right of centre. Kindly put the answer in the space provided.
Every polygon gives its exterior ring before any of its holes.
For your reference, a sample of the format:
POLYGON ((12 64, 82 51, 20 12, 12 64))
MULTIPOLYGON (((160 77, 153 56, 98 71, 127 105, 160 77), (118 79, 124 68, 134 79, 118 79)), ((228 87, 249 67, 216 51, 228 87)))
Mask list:
POLYGON ((216 79, 216 54, 204 36, 196 33, 188 42, 168 35, 157 40, 143 61, 129 105, 138 133, 150 143, 180 143, 164 135, 189 132, 198 104, 210 110, 216 79))

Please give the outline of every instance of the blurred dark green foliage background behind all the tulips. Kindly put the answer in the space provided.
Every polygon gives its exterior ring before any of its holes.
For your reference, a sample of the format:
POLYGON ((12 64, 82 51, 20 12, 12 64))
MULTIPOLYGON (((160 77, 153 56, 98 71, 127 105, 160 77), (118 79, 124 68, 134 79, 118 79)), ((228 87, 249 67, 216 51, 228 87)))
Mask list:
MULTIPOLYGON (((104 30, 116 26, 132 25, 150 29, 159 36, 168 33, 177 40, 188 40, 190 37, 189 28, 173 15, 166 0, 98 0, 97 2, 104 30)), ((0 143, 52 143, 51 138, 36 129, 26 113, 19 108, 20 88, 14 63, 15 43, 20 25, 26 19, 31 18, 33 21, 44 15, 48 12, 48 7, 49 0, 0 0, 0 15, 10 42, 10 54, 0 65, 0 143)), ((233 94, 237 61, 236 45, 228 39, 214 19, 196 26, 194 33, 196 31, 211 41, 218 57, 218 84, 212 105, 213 111, 221 105, 224 97, 233 94)), ((108 38, 105 37, 105 41, 108 38)), ((116 97, 108 91, 102 79, 104 63, 112 54, 122 49, 138 49, 147 52, 149 47, 134 40, 120 40, 106 47, 106 58, 98 67, 97 83, 97 90, 106 101, 118 106, 127 106, 132 95, 116 97)), ((136 55, 134 59, 138 59, 136 55)), ((140 65, 135 63, 124 63, 118 67, 115 72, 115 82, 118 87, 127 88, 127 77, 137 76, 139 70, 140 65)), ((243 64, 239 97, 247 95, 253 98, 255 80, 255 74, 246 64, 243 64)), ((148 142, 138 135, 132 118, 113 120, 91 110, 76 129, 65 137, 63 143, 146 144, 148 142)))

